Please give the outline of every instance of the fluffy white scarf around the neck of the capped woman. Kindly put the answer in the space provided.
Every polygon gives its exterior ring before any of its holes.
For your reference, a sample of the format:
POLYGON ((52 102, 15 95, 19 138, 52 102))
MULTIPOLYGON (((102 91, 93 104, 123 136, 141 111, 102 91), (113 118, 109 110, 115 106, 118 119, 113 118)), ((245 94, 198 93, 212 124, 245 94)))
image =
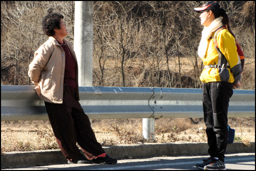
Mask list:
POLYGON ((205 58, 208 47, 208 39, 212 33, 219 29, 221 26, 223 26, 222 17, 219 17, 212 21, 209 27, 204 27, 204 30, 202 31, 202 38, 198 47, 198 56, 200 58, 205 58))

